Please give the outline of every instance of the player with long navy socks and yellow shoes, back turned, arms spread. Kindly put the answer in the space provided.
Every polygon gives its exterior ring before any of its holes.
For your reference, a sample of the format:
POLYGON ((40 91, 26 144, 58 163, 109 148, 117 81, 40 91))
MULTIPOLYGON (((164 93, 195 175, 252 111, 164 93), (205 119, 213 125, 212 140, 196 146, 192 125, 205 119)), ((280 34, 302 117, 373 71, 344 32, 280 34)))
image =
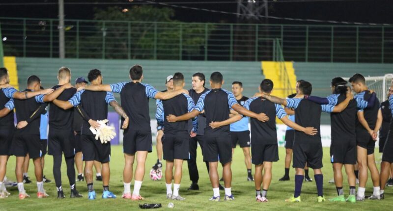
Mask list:
POLYGON ((348 106, 349 101, 353 98, 351 92, 347 92, 346 99, 337 106, 318 105, 316 103, 304 100, 304 95, 310 95, 312 90, 311 83, 302 81, 299 84, 299 94, 296 98, 286 100, 271 95, 262 94, 267 100, 295 109, 295 122, 303 127, 313 127, 318 130, 317 135, 310 136, 303 132, 295 132, 295 141, 293 144, 293 167, 296 169, 295 191, 294 195, 285 200, 287 202, 301 202, 300 194, 304 180, 304 167, 306 162, 314 170, 314 179, 317 187, 317 201, 323 202, 323 175, 322 164, 322 142, 320 135, 320 118, 321 111, 341 112, 348 106))

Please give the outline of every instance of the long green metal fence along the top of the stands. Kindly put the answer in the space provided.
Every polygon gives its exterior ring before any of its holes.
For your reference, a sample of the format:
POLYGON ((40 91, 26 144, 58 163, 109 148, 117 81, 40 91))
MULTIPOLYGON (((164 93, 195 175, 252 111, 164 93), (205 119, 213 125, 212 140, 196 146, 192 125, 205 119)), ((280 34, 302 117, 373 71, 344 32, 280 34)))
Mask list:
MULTIPOLYGON (((4 54, 58 57, 56 19, 0 18, 4 54), (6 37, 6 39, 5 39, 6 37)), ((69 58, 393 63, 393 26, 65 20, 69 58)))

